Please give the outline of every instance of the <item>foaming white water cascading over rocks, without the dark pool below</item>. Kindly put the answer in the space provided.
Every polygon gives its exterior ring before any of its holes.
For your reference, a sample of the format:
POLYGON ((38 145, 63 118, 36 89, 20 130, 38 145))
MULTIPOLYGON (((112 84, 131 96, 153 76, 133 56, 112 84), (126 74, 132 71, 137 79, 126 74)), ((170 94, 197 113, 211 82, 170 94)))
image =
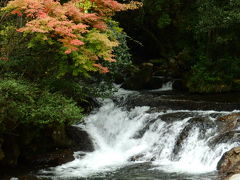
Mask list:
MULTIPOLYGON (((124 100, 129 93, 135 92, 120 90, 116 97, 122 97, 124 100)), ((74 161, 51 170, 44 170, 41 174, 52 173, 53 179, 90 177, 139 162, 151 162, 151 169, 165 172, 206 173, 216 169, 217 162, 224 152, 239 145, 228 142, 210 147, 209 142, 218 134, 217 128, 207 129, 204 131, 204 137, 200 138, 200 128, 196 126, 190 129, 182 141, 179 152, 174 154, 178 137, 190 124, 193 116, 209 117, 213 113, 231 112, 188 110, 151 112, 147 106, 126 110, 111 99, 101 100, 101 103, 102 107, 86 118, 86 125, 80 125, 91 136, 95 151, 76 152, 74 161), (162 120, 163 115, 174 113, 189 115, 172 122, 162 120)), ((215 119, 210 118, 212 122, 215 119)))

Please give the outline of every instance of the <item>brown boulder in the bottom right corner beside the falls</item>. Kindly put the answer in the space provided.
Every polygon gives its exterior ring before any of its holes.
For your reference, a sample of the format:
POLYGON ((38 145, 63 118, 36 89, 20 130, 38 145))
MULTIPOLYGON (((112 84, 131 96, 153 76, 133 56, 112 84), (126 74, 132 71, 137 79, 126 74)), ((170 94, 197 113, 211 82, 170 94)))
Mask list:
POLYGON ((240 173, 240 147, 235 147, 223 154, 217 164, 217 170, 223 177, 240 173))

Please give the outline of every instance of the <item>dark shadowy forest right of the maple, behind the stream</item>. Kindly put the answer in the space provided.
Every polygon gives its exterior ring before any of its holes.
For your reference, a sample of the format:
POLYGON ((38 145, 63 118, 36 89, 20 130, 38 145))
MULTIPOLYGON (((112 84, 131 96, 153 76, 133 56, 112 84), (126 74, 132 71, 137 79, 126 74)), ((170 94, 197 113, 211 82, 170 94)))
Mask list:
POLYGON ((153 63, 191 92, 225 92, 239 89, 239 8, 237 0, 145 0, 118 19, 135 40, 135 63, 153 63))

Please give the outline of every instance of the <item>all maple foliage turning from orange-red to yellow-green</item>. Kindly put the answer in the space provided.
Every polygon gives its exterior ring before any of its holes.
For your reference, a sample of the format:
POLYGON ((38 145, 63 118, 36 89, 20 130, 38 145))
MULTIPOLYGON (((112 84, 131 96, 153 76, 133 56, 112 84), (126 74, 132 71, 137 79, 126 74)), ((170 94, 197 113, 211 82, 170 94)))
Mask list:
MULTIPOLYGON (((127 8, 127 7, 126 7, 127 8)), ((23 34, 28 48, 42 50, 61 58, 58 62, 58 76, 89 76, 88 72, 107 73, 98 60, 113 62, 113 47, 116 39, 108 33, 107 20, 114 12, 124 10, 125 6, 117 1, 83 1, 70 0, 61 4, 49 0, 13 0, 2 13, 18 16, 20 28, 15 30, 23 34), (45 46, 45 51, 39 49, 45 46)), ((55 58, 55 61, 59 59, 55 58)))

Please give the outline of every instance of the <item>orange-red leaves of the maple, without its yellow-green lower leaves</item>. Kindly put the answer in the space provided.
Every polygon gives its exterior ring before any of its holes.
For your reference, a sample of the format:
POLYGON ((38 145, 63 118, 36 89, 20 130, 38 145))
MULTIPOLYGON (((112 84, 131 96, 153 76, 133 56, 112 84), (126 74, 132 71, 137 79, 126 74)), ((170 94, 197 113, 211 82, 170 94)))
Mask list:
MULTIPOLYGON (((7 5, 6 10, 12 14, 26 17, 27 23, 18 29, 19 32, 42 33, 44 40, 54 38, 62 43, 66 54, 79 51, 84 46, 84 35, 95 28, 100 32, 107 30, 106 19, 114 15, 114 12, 134 9, 139 3, 124 5, 115 0, 70 0, 60 4, 57 0, 13 0, 7 5), (82 7, 86 1, 92 3, 88 9, 82 7)), ((109 46, 112 48, 114 45, 109 46)), ((111 51, 104 60, 113 62, 111 51)), ((96 60, 94 56, 93 60, 96 60)), ((108 69, 100 64, 93 64, 101 72, 108 69)))

